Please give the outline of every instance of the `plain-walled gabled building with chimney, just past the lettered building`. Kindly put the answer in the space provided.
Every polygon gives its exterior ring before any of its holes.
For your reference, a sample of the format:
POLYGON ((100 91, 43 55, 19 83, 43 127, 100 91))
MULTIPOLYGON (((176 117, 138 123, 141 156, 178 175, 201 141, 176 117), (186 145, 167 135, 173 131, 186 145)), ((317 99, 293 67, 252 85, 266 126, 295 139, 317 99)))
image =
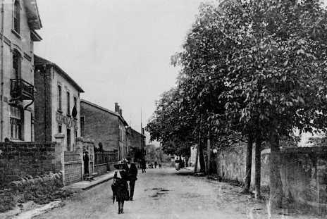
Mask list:
POLYGON ((96 146, 101 142, 105 151, 118 150, 119 159, 125 158, 128 154, 128 123, 122 114, 118 103, 115 103, 113 112, 82 99, 80 101, 82 137, 93 140, 96 146))

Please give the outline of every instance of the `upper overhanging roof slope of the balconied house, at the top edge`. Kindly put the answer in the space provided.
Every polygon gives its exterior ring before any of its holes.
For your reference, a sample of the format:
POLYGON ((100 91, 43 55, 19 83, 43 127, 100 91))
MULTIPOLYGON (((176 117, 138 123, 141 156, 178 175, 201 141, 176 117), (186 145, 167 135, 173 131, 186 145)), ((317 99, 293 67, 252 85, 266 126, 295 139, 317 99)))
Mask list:
POLYGON ((41 18, 39 17, 39 8, 37 8, 37 0, 24 0, 27 20, 30 29, 39 30, 42 28, 41 18))

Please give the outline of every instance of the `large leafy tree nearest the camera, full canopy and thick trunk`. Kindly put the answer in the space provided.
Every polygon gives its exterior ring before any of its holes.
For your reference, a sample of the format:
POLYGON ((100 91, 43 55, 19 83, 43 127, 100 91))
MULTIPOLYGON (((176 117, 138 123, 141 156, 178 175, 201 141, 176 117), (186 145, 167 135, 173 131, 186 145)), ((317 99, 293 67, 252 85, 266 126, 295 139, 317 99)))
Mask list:
POLYGON ((258 145, 269 142, 273 207, 282 197, 280 138, 326 127, 326 34, 319 1, 226 0, 202 5, 173 58, 183 101, 207 121, 205 132, 238 121, 258 145))

